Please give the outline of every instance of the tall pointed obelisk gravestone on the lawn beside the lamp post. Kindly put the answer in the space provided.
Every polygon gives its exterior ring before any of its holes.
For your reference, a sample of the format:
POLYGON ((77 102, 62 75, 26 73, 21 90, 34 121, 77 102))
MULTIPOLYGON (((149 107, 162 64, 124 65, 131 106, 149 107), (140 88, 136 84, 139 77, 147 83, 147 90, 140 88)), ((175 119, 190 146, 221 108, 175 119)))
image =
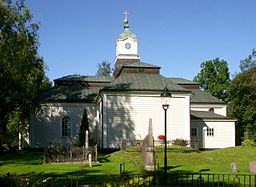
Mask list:
POLYGON ((142 163, 145 170, 155 170, 154 137, 152 119, 149 119, 148 135, 143 140, 142 163))

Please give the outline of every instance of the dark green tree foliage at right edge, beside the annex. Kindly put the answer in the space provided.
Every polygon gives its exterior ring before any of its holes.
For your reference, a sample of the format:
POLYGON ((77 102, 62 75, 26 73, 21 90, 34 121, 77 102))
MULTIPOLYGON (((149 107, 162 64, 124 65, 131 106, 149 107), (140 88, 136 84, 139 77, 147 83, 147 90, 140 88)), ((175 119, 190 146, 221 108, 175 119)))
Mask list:
POLYGON ((235 76, 229 86, 230 115, 237 119, 240 141, 245 131, 256 140, 256 67, 235 76))

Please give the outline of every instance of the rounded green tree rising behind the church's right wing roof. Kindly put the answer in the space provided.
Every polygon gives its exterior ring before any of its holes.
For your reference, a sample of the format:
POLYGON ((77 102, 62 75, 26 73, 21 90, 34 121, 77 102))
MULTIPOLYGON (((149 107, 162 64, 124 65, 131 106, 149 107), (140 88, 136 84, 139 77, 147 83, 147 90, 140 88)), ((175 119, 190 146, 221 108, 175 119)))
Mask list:
POLYGON ((200 83, 201 89, 227 102, 227 88, 230 84, 228 63, 225 60, 205 61, 194 81, 200 83))

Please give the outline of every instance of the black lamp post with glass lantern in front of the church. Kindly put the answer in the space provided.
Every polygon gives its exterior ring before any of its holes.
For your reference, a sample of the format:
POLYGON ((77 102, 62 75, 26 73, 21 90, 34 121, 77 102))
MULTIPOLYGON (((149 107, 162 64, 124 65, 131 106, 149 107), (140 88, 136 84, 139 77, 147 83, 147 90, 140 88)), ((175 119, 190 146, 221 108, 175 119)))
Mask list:
POLYGON ((167 110, 169 108, 171 93, 168 88, 165 87, 161 93, 162 106, 164 109, 164 182, 167 182, 167 110))

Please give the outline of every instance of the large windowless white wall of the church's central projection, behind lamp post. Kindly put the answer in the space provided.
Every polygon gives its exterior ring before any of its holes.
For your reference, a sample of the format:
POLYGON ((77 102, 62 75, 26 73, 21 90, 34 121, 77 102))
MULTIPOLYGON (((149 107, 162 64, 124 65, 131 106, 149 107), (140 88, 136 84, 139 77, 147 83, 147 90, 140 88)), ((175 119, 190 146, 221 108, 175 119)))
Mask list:
MULTIPOLYGON (((119 148, 122 140, 144 139, 149 119, 155 140, 164 135, 164 110, 159 95, 104 95, 104 147, 119 148)), ((167 139, 190 139, 189 96, 173 97, 167 110, 167 139)))

